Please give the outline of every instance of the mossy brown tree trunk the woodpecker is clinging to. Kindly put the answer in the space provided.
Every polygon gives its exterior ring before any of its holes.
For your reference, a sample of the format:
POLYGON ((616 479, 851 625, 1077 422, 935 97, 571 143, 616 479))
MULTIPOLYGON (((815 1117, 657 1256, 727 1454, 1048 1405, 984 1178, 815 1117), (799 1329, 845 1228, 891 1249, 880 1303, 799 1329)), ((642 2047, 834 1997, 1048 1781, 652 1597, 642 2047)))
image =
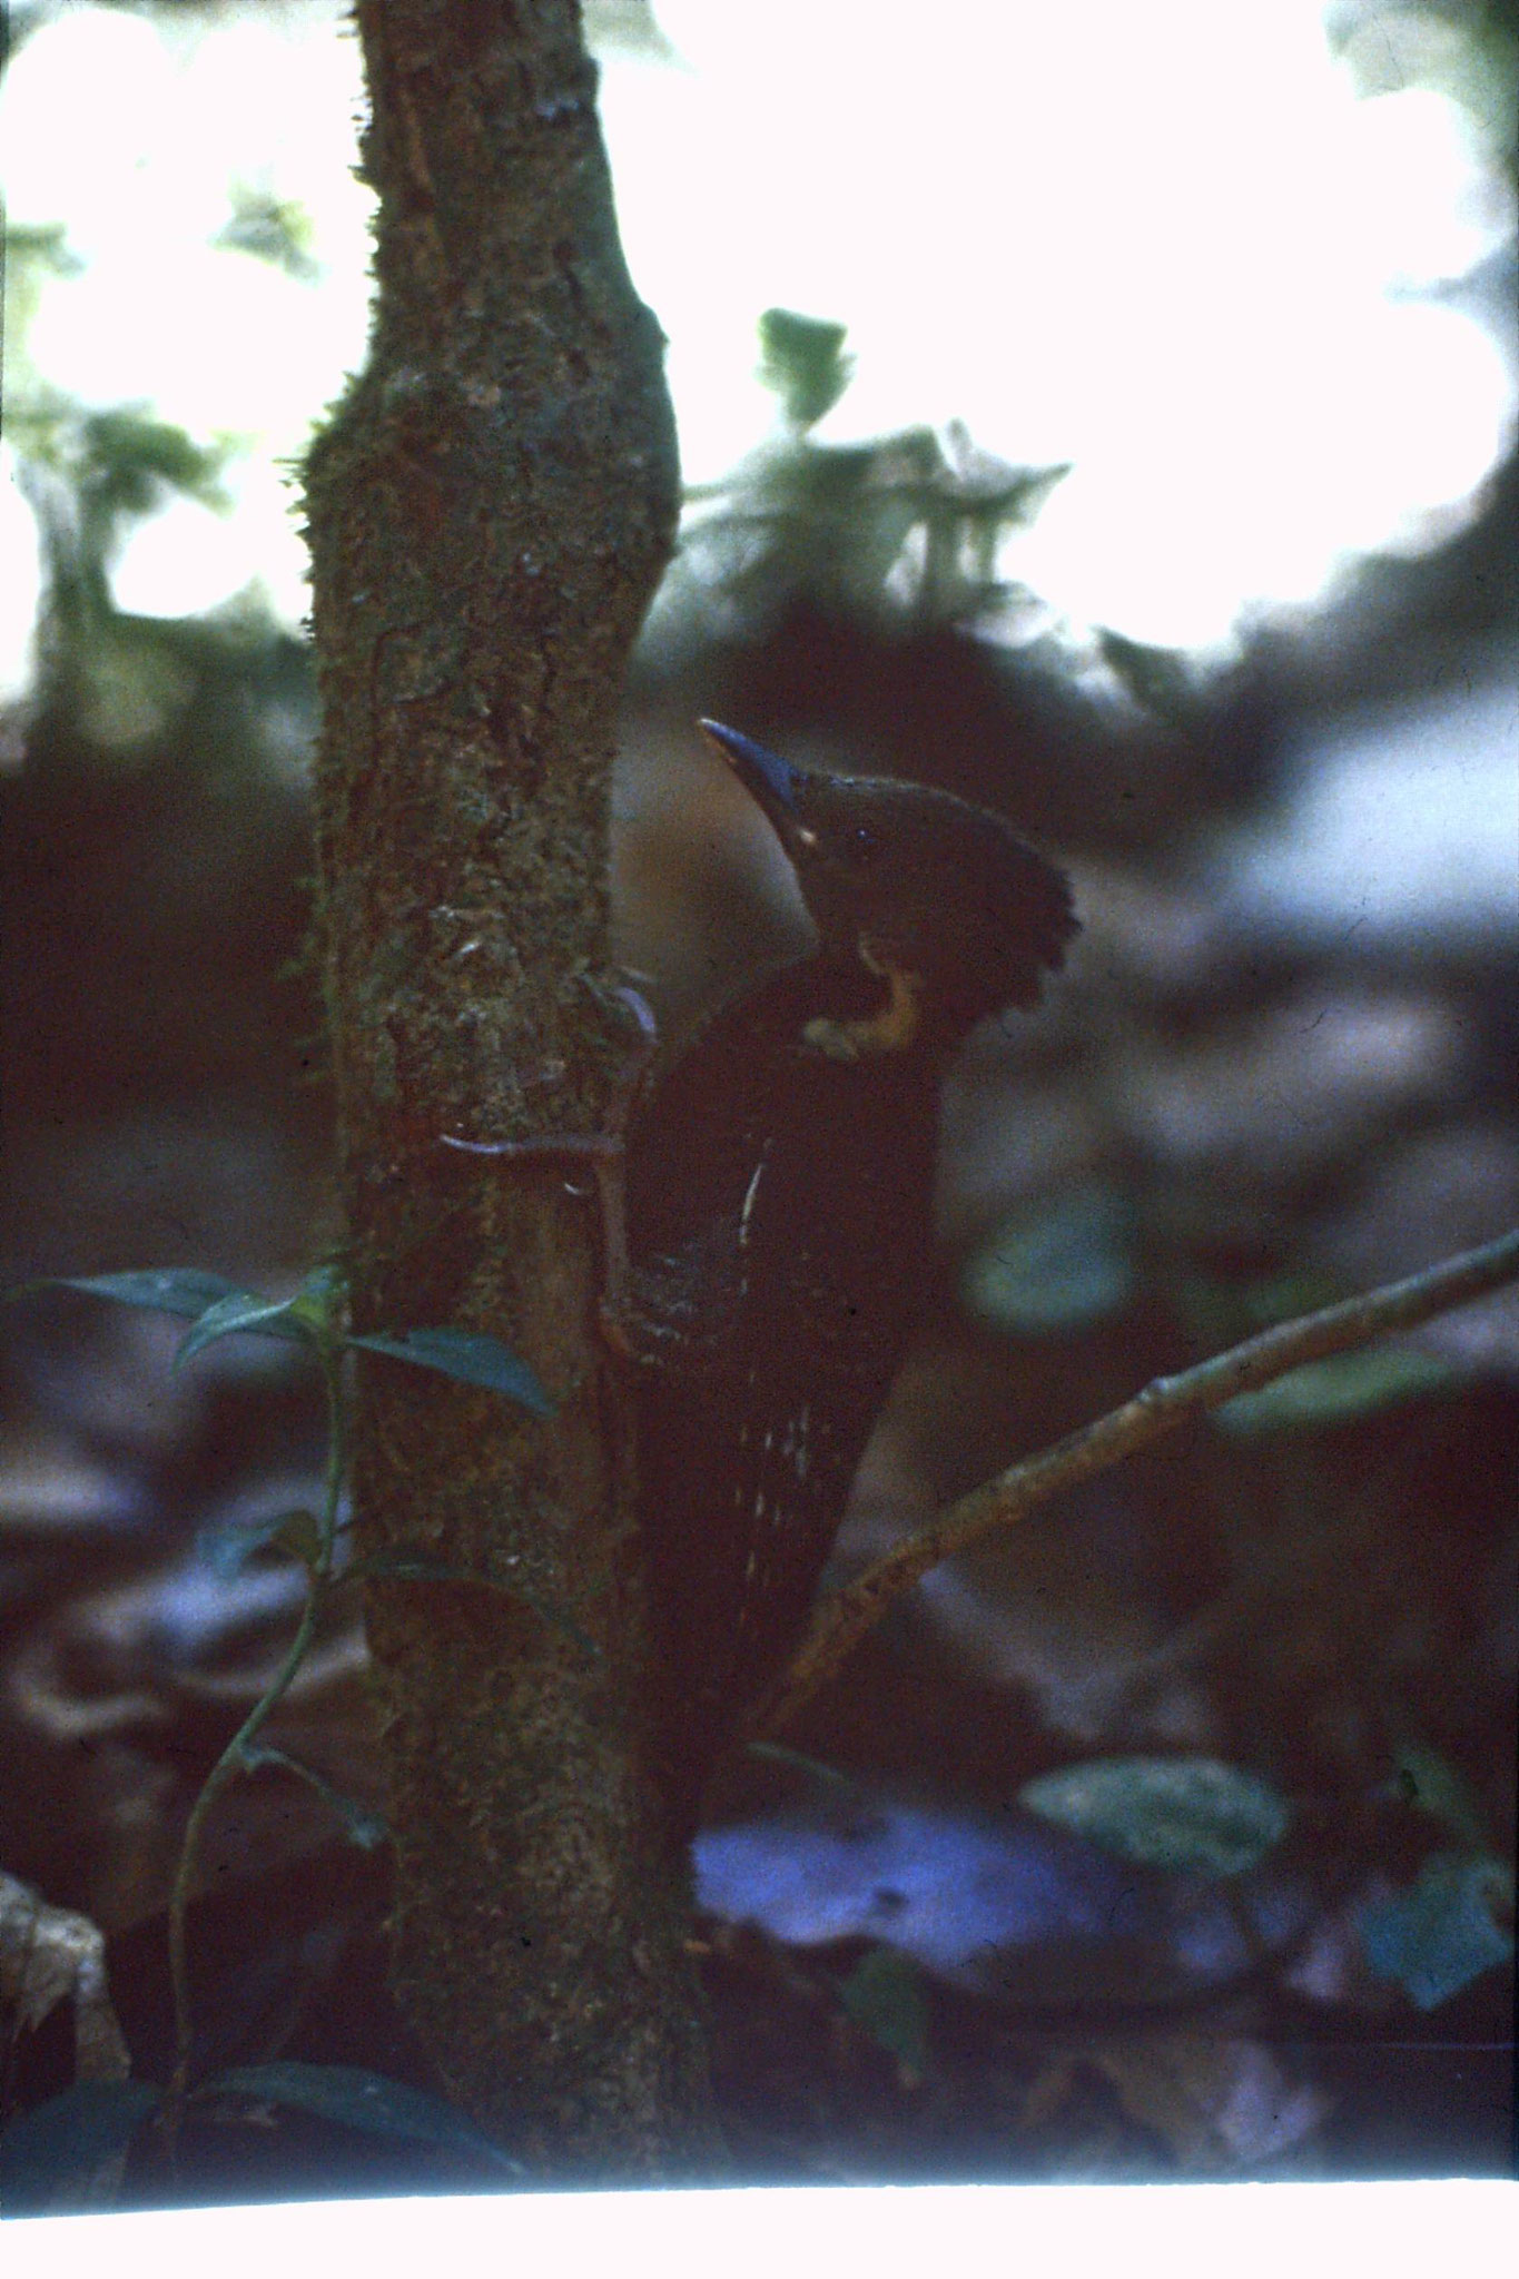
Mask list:
POLYGON ((355 1326, 490 1329, 563 1402, 542 1424, 364 1372, 360 1550, 517 1586, 369 1586, 396 1985, 453 2092, 547 2172, 681 2174, 711 2149, 706 2072, 642 1780, 594 1222, 556 1169, 440 1146, 594 1128, 626 1051, 588 980, 622 672, 676 513, 663 342, 572 0, 367 0, 358 23, 378 319, 307 485, 355 1326))

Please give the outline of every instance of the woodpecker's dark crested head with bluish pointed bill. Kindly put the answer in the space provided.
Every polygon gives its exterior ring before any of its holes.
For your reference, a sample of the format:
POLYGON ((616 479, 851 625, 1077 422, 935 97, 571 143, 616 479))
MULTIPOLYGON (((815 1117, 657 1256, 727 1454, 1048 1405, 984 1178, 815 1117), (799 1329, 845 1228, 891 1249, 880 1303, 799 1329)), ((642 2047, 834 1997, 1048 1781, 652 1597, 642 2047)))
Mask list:
POLYGON ((947 791, 795 768, 704 720, 786 848, 829 957, 906 978, 936 1026, 1032 1005, 1077 930, 1066 875, 947 791))

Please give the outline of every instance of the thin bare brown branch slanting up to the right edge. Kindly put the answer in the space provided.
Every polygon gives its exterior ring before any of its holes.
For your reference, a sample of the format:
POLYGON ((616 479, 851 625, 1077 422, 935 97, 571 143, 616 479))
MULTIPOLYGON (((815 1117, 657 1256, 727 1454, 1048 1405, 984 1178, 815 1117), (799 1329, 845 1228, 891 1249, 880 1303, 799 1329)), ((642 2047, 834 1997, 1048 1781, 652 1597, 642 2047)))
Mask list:
POLYGON ((1519 1276, 1519 1228, 1476 1251, 1462 1251, 1458 1258, 1426 1267, 1423 1274, 1366 1290, 1341 1306, 1305 1313, 1296 1322, 1278 1322, 1275 1329, 1264 1329, 1257 1338, 1246 1338, 1243 1345, 1232 1345, 1177 1377, 1157 1377, 1123 1408, 1111 1408, 1095 1424, 1084 1424, 1057 1440, 1054 1447, 1025 1456, 997 1479, 972 1488, 906 1543, 865 1568, 845 1591, 824 1598, 786 1677, 761 1702, 752 1721, 752 1737, 779 1732, 854 1652, 865 1632, 875 1629, 890 1602, 911 1591, 941 1559, 954 1559, 972 1543, 1013 1527, 1048 1497, 1075 1488, 1077 1481, 1105 1472, 1109 1463, 1120 1463, 1141 1447, 1150 1447, 1198 1408, 1221 1408, 1241 1392, 1255 1392, 1275 1377, 1300 1370, 1307 1361, 1346 1354, 1389 1331, 1414 1329, 1419 1322, 1464 1306, 1514 1276, 1519 1276))

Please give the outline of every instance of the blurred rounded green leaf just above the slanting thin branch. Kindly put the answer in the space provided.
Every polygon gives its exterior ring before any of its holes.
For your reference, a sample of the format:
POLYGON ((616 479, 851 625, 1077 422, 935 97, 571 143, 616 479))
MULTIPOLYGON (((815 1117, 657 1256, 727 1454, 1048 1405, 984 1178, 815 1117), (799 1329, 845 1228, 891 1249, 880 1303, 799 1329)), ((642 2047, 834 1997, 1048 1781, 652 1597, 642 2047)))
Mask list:
POLYGON ((1100 1322, 1132 1294, 1130 1210, 1105 1185, 1002 1219, 963 1281, 970 1313, 1034 1338, 1100 1322))

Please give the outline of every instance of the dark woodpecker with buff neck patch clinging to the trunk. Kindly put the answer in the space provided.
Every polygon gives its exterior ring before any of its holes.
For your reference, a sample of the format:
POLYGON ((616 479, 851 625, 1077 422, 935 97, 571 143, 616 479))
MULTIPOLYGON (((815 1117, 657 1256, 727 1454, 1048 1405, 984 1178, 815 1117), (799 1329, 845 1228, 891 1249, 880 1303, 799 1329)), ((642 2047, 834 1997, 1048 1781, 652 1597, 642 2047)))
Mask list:
POLYGON ((945 1064, 979 1019, 1036 1003, 1075 932, 1066 877, 1002 818, 701 727, 774 830, 818 944, 656 1055, 624 1130, 681 1835, 802 1636, 922 1306, 945 1064))

